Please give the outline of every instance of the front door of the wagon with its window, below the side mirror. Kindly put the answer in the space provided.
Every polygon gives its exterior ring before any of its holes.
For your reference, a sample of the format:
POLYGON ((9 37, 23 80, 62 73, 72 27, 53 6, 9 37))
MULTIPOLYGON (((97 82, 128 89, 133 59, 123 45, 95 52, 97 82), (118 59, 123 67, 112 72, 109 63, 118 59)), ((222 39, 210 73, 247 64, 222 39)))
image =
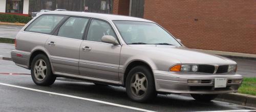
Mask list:
POLYGON ((80 47, 80 75, 119 80, 121 46, 102 42, 101 38, 104 35, 112 35, 117 38, 108 22, 92 19, 87 38, 82 41, 80 47))

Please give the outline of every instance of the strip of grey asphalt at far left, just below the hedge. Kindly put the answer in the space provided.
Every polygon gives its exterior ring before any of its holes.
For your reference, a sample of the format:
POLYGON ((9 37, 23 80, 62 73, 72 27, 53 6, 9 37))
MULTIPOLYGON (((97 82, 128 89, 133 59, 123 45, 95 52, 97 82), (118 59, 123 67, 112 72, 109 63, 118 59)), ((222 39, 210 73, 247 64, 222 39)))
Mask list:
POLYGON ((0 38, 15 38, 23 26, 0 25, 0 38))

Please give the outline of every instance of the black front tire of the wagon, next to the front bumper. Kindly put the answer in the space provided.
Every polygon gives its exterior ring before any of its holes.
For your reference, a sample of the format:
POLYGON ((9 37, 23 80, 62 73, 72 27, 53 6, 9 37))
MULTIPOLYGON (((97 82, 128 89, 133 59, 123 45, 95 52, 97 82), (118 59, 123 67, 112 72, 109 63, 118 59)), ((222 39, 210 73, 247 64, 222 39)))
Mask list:
MULTIPOLYGON (((142 78, 141 78, 142 79, 142 78)), ((138 82, 138 80, 137 80, 138 82)), ((134 83, 136 83, 136 78, 134 79, 134 83)), ((136 84, 133 84, 136 85, 136 84)), ((137 89, 141 84, 137 84, 137 89)), ((126 87, 126 93, 129 96, 129 98, 131 98, 133 101, 135 102, 147 102, 150 100, 153 100, 156 97, 156 88, 155 88, 155 83, 154 83, 154 77, 152 72, 146 68, 145 66, 135 66, 127 75, 126 81, 125 81, 125 87, 126 87), (142 92, 138 92, 138 93, 143 93, 142 95, 136 95, 134 93, 134 91, 136 91, 136 87, 132 87, 132 83, 133 83, 133 79, 134 77, 136 77, 136 74, 144 74, 145 76, 145 81, 143 81, 143 87, 146 88, 144 89, 144 91, 142 92), (147 85, 145 85, 145 83, 147 83, 147 85), (145 87, 146 86, 146 87, 145 87)), ((137 92, 136 92, 137 93, 137 92)))

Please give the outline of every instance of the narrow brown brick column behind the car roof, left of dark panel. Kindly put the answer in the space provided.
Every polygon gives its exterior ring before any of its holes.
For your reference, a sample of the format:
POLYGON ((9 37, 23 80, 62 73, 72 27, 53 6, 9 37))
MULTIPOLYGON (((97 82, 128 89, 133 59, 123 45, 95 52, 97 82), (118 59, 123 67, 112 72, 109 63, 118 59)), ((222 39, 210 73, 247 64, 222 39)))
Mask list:
POLYGON ((113 14, 129 15, 130 0, 114 0, 113 14))

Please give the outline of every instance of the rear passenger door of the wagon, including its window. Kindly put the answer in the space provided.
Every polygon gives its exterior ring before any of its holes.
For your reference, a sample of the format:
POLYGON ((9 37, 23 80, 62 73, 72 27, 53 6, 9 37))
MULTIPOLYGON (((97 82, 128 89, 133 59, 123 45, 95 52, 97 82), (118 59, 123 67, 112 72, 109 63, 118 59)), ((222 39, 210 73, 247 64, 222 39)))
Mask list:
POLYGON ((46 42, 53 72, 79 74, 79 48, 89 18, 70 16, 46 42))

